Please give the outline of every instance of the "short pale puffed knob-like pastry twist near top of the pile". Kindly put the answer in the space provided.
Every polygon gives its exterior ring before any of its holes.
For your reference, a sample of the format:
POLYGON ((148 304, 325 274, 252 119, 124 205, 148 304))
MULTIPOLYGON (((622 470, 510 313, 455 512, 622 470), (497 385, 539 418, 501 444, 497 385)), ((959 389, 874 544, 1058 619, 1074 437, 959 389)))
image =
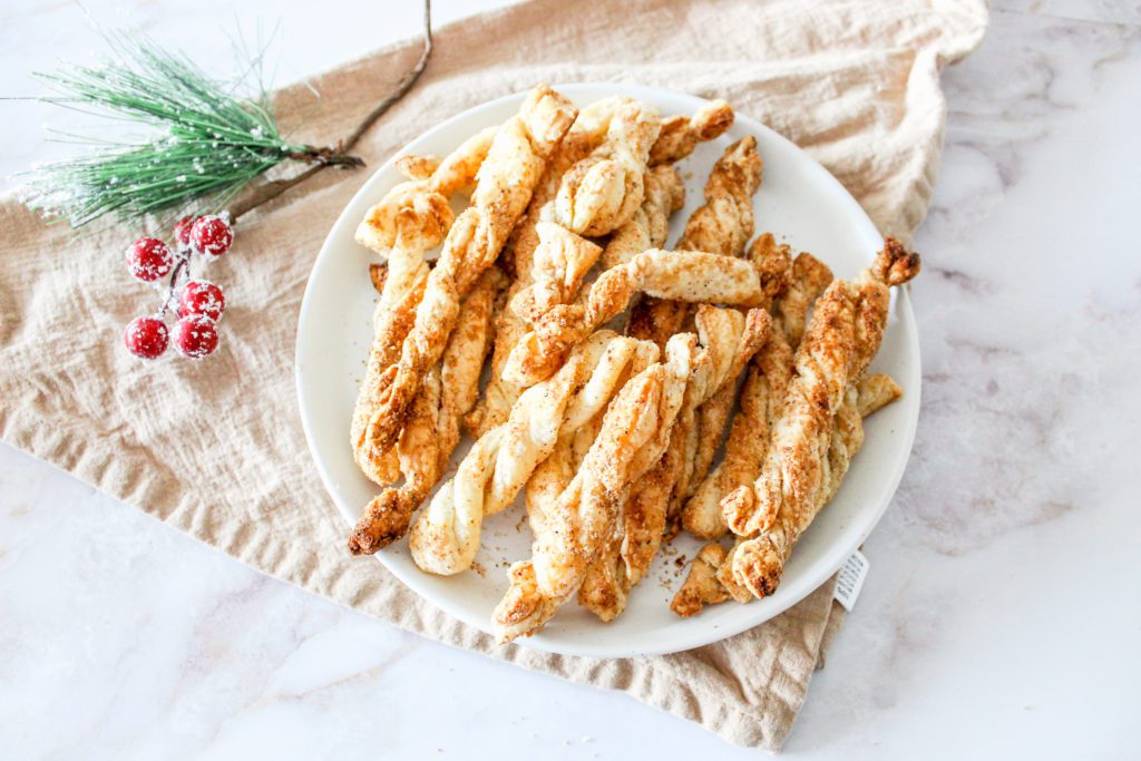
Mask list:
POLYGON ((608 235, 629 221, 641 205, 649 152, 661 131, 657 110, 637 100, 622 105, 602 144, 563 176, 556 221, 584 236, 608 235))

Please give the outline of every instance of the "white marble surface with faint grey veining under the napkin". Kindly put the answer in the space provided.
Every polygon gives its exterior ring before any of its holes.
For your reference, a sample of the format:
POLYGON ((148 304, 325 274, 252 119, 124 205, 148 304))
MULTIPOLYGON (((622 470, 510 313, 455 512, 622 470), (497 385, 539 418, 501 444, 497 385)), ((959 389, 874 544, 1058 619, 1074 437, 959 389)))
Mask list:
MULTIPOLYGON (((220 52, 230 3, 89 2, 220 52)), ((242 3, 278 81, 416 29, 412 3, 242 3), (355 11, 351 7, 357 7, 355 11), (356 23, 353 19, 357 19, 356 23), (362 23, 361 19, 367 19, 362 23)), ((483 3, 482 3, 483 5, 483 3)), ((917 248, 923 416, 872 573, 786 752, 1141 758, 1141 8, 998 2, 946 72, 917 248)), ((476 3, 437 1, 439 18, 476 3)), ((96 48, 0 6, 0 91, 96 48)), ((58 155, 0 104, 0 173, 58 155)), ((748 758, 623 695, 420 640, 267 580, 0 446, 5 758, 748 758), (637 755, 631 755, 637 754, 637 755)))

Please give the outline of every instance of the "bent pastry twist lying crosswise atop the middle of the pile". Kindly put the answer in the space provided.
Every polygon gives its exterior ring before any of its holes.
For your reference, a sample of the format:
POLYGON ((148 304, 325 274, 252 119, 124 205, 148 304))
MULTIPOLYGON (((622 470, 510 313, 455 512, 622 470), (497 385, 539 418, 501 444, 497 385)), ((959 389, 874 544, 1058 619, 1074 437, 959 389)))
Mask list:
POLYGON ((760 299, 756 270, 747 261, 701 251, 652 249, 599 275, 578 302, 544 314, 519 339, 503 367, 513 383, 531 386, 561 366, 570 348, 622 313, 636 293, 751 306, 760 299))

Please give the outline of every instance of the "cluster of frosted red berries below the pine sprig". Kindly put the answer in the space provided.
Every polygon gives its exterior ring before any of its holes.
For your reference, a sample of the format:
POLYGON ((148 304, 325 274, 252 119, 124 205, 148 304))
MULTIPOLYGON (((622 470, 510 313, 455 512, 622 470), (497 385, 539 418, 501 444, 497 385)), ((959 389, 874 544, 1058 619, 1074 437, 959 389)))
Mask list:
POLYGON ((140 237, 127 249, 127 268, 145 283, 170 276, 170 288, 157 313, 137 317, 123 340, 136 357, 161 357, 171 338, 179 354, 201 359, 218 348, 218 321, 226 310, 221 289, 209 281, 191 278, 195 256, 213 259, 229 251, 234 230, 221 217, 186 217, 175 225, 173 248, 154 237, 140 237), (167 310, 173 306, 178 322, 173 335, 167 327, 167 310))

